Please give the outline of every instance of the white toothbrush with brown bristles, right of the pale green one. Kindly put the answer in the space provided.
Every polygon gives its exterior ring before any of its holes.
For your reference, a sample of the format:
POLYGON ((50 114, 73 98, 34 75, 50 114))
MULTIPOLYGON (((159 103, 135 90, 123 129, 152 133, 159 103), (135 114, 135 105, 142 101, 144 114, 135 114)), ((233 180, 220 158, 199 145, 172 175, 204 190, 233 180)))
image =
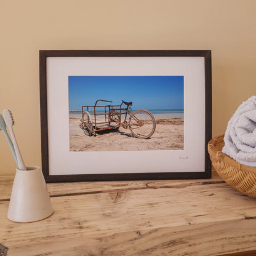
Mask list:
POLYGON ((22 159, 22 154, 20 153, 20 150, 18 149, 18 143, 14 135, 14 130, 12 129, 12 126, 14 125, 14 118, 12 116, 12 113, 10 110, 4 110, 2 112, 2 115, 4 116, 4 121, 6 121, 6 126, 8 127, 10 131, 10 137, 12 137, 12 143, 14 143, 14 150, 17 156, 18 161, 18 169, 20 170, 26 170, 26 166, 22 159))

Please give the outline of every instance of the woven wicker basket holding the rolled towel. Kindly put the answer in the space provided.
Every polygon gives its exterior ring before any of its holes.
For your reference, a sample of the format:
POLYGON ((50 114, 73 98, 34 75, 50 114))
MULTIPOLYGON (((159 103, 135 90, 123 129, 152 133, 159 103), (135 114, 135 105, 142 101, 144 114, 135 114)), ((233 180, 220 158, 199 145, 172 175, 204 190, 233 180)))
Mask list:
POLYGON ((256 167, 239 164, 230 156, 222 153, 224 146, 224 135, 212 138, 208 143, 208 152, 212 165, 218 175, 225 180, 228 185, 241 191, 248 196, 256 198, 256 167))

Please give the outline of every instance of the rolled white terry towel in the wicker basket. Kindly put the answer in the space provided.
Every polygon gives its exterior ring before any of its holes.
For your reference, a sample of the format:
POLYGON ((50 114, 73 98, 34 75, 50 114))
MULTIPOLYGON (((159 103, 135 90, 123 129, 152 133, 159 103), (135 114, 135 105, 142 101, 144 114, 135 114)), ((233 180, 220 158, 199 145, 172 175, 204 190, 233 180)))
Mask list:
POLYGON ((256 96, 243 102, 231 117, 222 152, 246 166, 256 166, 256 96))

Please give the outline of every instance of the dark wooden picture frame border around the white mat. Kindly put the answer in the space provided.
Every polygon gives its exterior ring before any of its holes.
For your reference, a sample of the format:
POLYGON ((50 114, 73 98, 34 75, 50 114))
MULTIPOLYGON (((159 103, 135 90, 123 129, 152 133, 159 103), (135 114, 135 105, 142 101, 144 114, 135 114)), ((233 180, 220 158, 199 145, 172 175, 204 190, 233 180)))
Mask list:
MULTIPOLYGON (((42 172, 46 182, 79 182, 106 180, 159 180, 210 178, 211 162, 207 143, 212 137, 212 74, 210 50, 40 50, 40 106, 41 106, 41 157, 42 172), (183 172, 130 172, 97 174, 50 174, 49 170, 49 122, 47 99, 47 58, 55 57, 203 57, 204 59, 204 170, 183 172)), ((196 142, 195 142, 196 143, 196 142)))

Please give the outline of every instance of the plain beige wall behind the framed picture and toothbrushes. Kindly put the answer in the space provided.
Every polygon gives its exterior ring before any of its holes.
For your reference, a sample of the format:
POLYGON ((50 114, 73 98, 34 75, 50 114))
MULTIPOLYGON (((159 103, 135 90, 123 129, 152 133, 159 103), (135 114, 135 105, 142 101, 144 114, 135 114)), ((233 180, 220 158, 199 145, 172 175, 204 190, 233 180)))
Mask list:
MULTIPOLYGON (((0 111, 27 165, 41 165, 38 51, 212 50, 213 136, 256 92, 255 0, 0 0, 0 111)), ((15 162, 0 133, 0 174, 15 162)))

